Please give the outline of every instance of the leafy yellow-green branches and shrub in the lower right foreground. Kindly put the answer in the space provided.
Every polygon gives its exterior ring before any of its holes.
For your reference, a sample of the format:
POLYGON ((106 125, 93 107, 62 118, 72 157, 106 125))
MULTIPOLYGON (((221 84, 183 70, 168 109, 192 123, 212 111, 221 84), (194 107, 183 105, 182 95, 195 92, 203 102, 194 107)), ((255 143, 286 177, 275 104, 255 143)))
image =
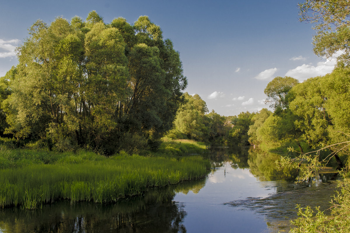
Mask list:
MULTIPOLYGON (((344 132, 337 131, 339 133, 344 132)), ((349 155, 350 141, 343 141, 335 143, 329 146, 324 146, 319 150, 300 153, 295 158, 289 158, 288 156, 281 157, 280 161, 276 161, 279 168, 293 167, 301 170, 301 174, 296 182, 310 181, 311 177, 314 177, 318 170, 322 169, 332 157, 337 156, 338 153, 349 155), (323 150, 329 150, 331 153, 320 160, 320 152, 323 150)), ((293 147, 288 148, 289 151, 294 152, 293 147)), ((319 206, 301 207, 296 206, 298 209, 299 218, 291 220, 290 223, 295 227, 290 230, 291 233, 345 233, 350 232, 350 177, 345 169, 339 172, 341 180, 338 180, 338 190, 335 191, 335 195, 329 202, 331 204, 329 210, 330 215, 320 210, 319 206)), ((314 182, 314 181, 313 181, 314 182)))

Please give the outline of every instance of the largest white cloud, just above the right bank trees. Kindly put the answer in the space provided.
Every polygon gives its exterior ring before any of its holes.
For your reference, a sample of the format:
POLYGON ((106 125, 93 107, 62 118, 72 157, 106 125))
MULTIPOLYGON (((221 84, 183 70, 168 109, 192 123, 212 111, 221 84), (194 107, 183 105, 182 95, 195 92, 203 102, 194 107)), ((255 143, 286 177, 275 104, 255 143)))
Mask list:
POLYGON ((331 58, 326 61, 320 61, 316 66, 312 64, 302 64, 292 70, 289 70, 285 76, 290 76, 299 81, 304 81, 305 79, 316 77, 320 75, 325 75, 331 73, 334 69, 335 64, 337 63, 337 57, 343 54, 343 51, 337 51, 332 55, 331 58))

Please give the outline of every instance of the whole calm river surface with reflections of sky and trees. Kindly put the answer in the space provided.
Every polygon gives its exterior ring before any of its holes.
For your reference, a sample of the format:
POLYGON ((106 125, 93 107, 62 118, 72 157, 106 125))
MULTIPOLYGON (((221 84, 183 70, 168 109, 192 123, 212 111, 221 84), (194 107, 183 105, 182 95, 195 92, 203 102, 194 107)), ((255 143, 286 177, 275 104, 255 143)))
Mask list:
POLYGON ((288 232, 296 204, 325 210, 334 195, 333 174, 294 184, 295 172, 276 170, 276 154, 217 147, 208 156, 208 177, 127 201, 2 209, 0 232, 288 232))

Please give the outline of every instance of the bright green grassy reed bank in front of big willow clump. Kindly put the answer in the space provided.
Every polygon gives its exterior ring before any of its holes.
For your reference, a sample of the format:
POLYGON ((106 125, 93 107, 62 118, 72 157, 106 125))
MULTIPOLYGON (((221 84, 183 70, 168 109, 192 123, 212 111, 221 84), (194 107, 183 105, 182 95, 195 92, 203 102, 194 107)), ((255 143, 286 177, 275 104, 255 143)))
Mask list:
MULTIPOLYGON (((182 151, 184 146, 180 141, 167 143, 162 150, 172 145, 174 151, 182 151)), ((174 151, 169 153, 175 155, 174 151)), ((198 155, 182 158, 167 158, 160 156, 160 152, 157 155, 121 152, 106 158, 84 151, 73 154, 1 149, 0 205, 33 209, 57 199, 113 202, 141 195, 149 187, 201 177, 210 167, 209 161, 198 155)))

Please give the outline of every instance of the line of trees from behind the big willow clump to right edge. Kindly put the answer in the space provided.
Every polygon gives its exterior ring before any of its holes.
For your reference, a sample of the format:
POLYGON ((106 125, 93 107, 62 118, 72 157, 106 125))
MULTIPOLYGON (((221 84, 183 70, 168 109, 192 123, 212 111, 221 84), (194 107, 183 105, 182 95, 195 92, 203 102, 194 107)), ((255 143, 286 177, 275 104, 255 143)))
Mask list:
MULTIPOLYGON (((220 116, 208 112, 198 95, 184 94, 175 118, 172 138, 257 145, 264 149, 300 152, 342 141, 350 135, 350 69, 345 66, 302 83, 291 77, 276 77, 265 88, 266 104, 258 112, 220 116)), ((336 150, 335 148, 332 149, 336 150)), ((337 154, 335 154, 338 160, 337 154)))

